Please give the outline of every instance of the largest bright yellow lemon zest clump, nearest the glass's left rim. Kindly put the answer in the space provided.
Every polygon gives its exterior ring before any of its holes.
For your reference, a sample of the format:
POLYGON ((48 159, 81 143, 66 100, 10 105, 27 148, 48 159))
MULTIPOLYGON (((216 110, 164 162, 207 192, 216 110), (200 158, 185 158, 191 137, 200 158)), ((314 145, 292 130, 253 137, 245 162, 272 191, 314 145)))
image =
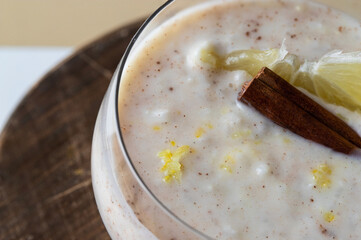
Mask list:
POLYGON ((158 157, 163 162, 163 167, 160 169, 164 173, 163 181, 170 183, 173 179, 180 181, 182 177, 183 165, 180 161, 190 152, 190 147, 181 146, 172 153, 169 149, 158 153, 158 157))

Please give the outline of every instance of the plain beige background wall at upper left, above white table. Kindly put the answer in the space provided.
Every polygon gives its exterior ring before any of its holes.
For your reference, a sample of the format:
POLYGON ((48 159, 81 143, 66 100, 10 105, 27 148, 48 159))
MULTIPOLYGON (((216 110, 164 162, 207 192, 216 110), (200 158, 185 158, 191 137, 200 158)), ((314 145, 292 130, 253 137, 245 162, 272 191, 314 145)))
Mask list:
POLYGON ((76 46, 149 15, 165 0, 0 0, 0 45, 76 46))

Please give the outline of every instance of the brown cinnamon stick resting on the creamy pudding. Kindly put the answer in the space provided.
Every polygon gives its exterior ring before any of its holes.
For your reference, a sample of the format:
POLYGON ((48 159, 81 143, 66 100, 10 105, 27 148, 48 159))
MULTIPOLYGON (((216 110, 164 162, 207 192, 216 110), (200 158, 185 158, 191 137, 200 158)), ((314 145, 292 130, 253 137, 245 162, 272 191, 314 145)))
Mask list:
POLYGON ((346 123, 268 68, 243 86, 238 100, 281 127, 335 151, 349 154, 361 146, 361 138, 346 123))

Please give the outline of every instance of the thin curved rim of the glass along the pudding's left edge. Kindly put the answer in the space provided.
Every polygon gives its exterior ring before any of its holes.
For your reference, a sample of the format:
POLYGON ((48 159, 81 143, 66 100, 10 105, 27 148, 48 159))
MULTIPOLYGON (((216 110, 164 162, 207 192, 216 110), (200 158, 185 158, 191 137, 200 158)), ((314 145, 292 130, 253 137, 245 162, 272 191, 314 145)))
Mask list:
MULTIPOLYGON (((118 108, 118 103, 119 103, 119 88, 120 88, 120 82, 121 82, 121 78, 123 75, 123 70, 125 67, 125 62, 127 61, 130 52, 132 50, 132 48, 134 47, 136 41, 138 40, 139 36, 141 35, 141 33, 145 30, 145 28, 148 26, 148 24, 162 11, 164 10, 168 5, 170 5, 171 3, 173 3, 175 0, 168 0, 166 3, 164 3, 161 7, 159 7, 149 18, 147 18, 147 20, 142 24, 142 26, 139 28, 139 30, 137 31, 137 33, 134 35, 134 37, 132 38, 131 42, 129 43, 122 60, 120 61, 119 64, 119 73, 116 80, 116 87, 115 87, 115 123, 116 123, 116 135, 118 137, 119 142, 121 143, 121 149, 122 152, 124 154, 124 158, 125 161, 127 162, 129 168, 131 169, 134 177, 137 179, 137 181, 139 182, 139 184, 142 186, 142 188, 145 190, 145 192, 147 194, 150 195, 150 197, 157 203, 157 205, 160 206, 160 208, 166 213, 168 214, 171 218, 174 218, 176 221, 178 221, 179 223, 181 223, 182 225, 186 226, 190 231, 194 232, 196 235, 198 235, 201 238, 204 239, 208 239, 208 240, 213 240, 211 237, 205 235, 204 233, 200 232, 199 230, 193 228, 191 225, 189 225, 188 223, 186 223, 185 221, 183 221, 180 217, 178 217, 176 214, 174 214, 167 206, 165 206, 156 196, 155 194, 148 188, 147 184, 143 181, 143 179, 140 177, 138 171, 136 170, 133 162, 130 159, 129 153, 125 147, 125 142, 124 142, 124 138, 123 138, 123 134, 122 134, 122 130, 120 127, 120 120, 119 120, 119 108, 118 108)), ((114 176, 116 177, 116 176, 114 176)))

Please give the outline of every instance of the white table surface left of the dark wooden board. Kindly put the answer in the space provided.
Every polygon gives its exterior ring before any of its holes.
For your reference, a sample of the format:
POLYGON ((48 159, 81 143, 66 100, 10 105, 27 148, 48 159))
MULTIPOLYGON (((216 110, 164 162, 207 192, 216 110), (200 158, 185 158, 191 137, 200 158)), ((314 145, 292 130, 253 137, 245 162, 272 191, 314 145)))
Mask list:
POLYGON ((71 47, 0 47, 0 132, 31 87, 73 51, 71 47))

